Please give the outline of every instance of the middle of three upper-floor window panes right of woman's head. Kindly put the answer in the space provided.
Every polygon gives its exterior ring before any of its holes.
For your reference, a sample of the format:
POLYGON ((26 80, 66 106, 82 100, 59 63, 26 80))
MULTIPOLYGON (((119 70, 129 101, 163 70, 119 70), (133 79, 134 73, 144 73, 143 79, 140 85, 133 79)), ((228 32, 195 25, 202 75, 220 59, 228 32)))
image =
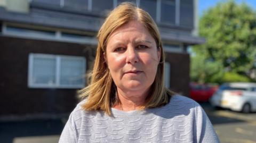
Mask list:
POLYGON ((161 22, 175 24, 175 0, 161 1, 161 22))

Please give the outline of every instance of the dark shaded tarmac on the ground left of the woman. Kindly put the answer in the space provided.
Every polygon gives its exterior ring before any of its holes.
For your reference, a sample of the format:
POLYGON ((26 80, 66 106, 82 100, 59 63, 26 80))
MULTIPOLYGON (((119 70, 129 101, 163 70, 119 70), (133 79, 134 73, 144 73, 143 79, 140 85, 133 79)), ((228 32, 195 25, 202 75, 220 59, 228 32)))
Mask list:
POLYGON ((64 128, 60 119, 0 122, 1 143, 55 143, 64 128))

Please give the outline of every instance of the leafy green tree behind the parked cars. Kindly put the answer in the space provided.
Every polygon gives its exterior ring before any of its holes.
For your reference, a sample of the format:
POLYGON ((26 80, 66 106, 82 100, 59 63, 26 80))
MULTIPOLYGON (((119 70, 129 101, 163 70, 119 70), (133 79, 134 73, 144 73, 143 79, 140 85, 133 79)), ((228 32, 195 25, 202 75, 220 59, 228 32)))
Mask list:
POLYGON ((204 65, 204 82, 221 82, 226 72, 250 77, 251 71, 255 69, 256 15, 249 6, 234 1, 218 3, 205 11, 199 20, 199 36, 205 37, 206 43, 193 47, 192 80, 202 80, 195 79, 200 77, 196 74, 202 74, 193 70, 198 62, 204 65), (200 59, 202 56, 204 58, 200 59), (218 72, 214 68, 219 68, 218 72))

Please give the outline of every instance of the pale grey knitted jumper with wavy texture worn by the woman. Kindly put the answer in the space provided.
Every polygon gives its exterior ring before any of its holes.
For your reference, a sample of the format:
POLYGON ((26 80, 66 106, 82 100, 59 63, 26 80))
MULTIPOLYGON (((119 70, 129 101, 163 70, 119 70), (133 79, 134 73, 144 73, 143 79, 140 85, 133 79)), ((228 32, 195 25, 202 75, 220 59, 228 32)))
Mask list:
POLYGON ((219 142, 207 115, 194 100, 175 95, 170 103, 145 111, 111 109, 70 114, 59 142, 219 142))

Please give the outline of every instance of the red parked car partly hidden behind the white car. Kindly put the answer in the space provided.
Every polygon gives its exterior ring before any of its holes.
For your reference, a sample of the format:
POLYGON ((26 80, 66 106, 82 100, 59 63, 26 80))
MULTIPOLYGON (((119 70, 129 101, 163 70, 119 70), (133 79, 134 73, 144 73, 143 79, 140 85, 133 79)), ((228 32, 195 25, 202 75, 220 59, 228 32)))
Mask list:
POLYGON ((190 98, 197 102, 208 102, 217 89, 216 85, 190 83, 190 98))

